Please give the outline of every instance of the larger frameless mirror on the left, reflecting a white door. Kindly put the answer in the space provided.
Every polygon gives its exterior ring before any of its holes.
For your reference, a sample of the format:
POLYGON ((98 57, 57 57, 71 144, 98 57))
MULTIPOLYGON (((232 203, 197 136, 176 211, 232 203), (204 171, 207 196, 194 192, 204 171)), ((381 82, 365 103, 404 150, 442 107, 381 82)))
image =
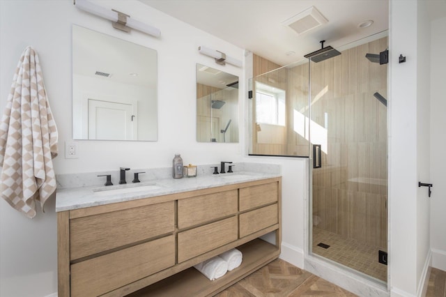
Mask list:
POLYGON ((157 52, 72 26, 73 139, 157 140, 157 52))

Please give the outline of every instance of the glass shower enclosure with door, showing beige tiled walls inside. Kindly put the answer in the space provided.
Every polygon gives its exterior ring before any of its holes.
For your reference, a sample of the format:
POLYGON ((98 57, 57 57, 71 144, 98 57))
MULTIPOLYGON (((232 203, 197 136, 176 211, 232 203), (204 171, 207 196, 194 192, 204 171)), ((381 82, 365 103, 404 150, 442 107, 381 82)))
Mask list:
POLYGON ((387 47, 381 33, 330 59, 254 77, 249 105, 250 155, 309 157, 309 254, 381 283, 387 282, 387 64, 379 54, 387 47))

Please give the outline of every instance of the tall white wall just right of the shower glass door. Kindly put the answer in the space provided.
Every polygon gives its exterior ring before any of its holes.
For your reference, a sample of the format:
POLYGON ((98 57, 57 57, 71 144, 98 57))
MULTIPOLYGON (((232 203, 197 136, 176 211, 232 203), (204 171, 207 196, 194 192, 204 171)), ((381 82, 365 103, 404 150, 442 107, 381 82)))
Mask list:
POLYGON ((392 296, 420 296, 429 258, 429 19, 422 1, 390 1, 389 234, 392 296), (424 43, 427 43, 424 44, 424 43), (406 63, 399 63, 399 54, 406 63), (423 64, 428 61, 428 65, 423 64))

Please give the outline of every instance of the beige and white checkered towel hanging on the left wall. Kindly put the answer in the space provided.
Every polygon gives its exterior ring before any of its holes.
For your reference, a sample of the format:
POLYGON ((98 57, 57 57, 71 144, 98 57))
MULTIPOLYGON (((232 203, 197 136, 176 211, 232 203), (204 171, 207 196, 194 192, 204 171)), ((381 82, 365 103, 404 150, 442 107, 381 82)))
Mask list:
POLYGON ((57 128, 37 52, 26 47, 0 123, 1 197, 27 217, 56 190, 57 128))

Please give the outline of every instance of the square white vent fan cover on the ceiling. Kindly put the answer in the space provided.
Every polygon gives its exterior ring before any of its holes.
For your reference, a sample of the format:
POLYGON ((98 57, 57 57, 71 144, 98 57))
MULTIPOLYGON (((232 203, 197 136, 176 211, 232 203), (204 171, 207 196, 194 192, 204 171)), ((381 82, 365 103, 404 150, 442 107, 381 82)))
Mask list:
POLYGON ((314 6, 282 22, 284 26, 289 26, 298 34, 305 33, 326 23, 328 23, 328 20, 314 6))

